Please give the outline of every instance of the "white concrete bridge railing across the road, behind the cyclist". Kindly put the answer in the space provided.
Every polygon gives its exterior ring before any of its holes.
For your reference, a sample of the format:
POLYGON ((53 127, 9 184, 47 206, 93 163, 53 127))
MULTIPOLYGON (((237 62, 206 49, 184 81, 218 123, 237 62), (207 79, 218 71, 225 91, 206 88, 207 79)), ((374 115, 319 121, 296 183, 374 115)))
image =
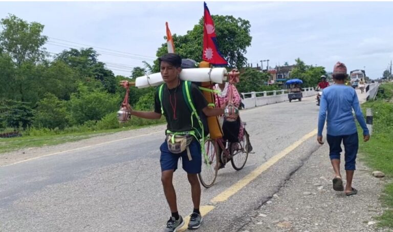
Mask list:
MULTIPOLYGON (((317 95, 313 87, 303 88, 302 93, 303 98, 317 95)), ((287 89, 263 92, 242 92, 241 94, 243 96, 242 102, 245 109, 289 101, 287 89)))

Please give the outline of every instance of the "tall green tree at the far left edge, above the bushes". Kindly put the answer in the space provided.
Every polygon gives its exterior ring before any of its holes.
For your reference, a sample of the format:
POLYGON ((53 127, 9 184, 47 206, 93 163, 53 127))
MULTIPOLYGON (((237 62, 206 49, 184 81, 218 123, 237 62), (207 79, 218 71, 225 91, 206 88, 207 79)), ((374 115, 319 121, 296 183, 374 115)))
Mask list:
POLYGON ((44 26, 12 14, 1 19, 0 25, 0 83, 6 98, 34 107, 42 94, 41 72, 47 64, 45 48, 41 48, 48 39, 41 35, 44 26))

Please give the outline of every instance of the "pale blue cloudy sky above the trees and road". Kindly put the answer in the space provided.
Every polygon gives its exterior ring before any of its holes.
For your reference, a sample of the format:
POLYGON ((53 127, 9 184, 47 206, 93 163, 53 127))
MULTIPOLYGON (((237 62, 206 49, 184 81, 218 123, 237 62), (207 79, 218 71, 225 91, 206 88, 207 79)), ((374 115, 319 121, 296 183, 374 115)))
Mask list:
MULTIPOLYGON (((299 57, 331 72, 341 61, 376 79, 393 59, 393 2, 206 3, 212 15, 250 21, 246 57, 253 66, 266 59, 269 66, 294 64, 299 57)), ((115 74, 129 76, 156 58, 166 42, 165 21, 172 34, 184 35, 203 16, 203 2, 0 2, 0 18, 9 13, 45 25, 50 54, 93 47, 115 74)))

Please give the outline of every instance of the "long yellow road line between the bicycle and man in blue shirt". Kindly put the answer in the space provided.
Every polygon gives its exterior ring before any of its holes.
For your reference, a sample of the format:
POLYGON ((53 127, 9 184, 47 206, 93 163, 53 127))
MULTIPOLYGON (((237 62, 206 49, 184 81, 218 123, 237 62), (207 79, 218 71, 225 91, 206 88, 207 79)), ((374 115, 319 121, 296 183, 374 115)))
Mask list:
POLYGON ((275 156, 271 157, 266 163, 263 165, 259 166, 256 168, 254 171, 252 171, 250 174, 245 176, 243 179, 237 181, 235 184, 233 184, 231 187, 229 187, 227 190, 224 192, 220 193, 216 197, 214 197, 211 202, 212 203, 217 203, 217 202, 223 202, 228 200, 229 197, 231 197, 233 194, 237 193, 239 190, 241 190, 243 187, 245 187, 248 183, 250 183, 252 180, 254 180, 257 176, 259 176, 261 173, 266 171, 268 168, 273 166, 275 163, 277 163, 278 160, 280 160, 282 157, 286 156, 289 154, 291 151, 293 151, 295 148, 297 148, 300 144, 302 144, 304 141, 308 140, 310 137, 315 136, 317 134, 317 129, 311 131, 310 133, 304 135, 300 140, 296 141, 294 144, 291 146, 287 147, 280 153, 276 154, 275 156))

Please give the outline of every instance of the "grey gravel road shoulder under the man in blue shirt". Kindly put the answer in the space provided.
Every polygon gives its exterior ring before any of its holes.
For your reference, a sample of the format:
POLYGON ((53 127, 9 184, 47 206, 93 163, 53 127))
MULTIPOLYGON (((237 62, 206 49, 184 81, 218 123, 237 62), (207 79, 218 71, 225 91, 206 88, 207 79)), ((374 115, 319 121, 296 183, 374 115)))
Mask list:
POLYGON ((358 159, 353 186, 359 193, 347 197, 332 189, 328 154, 327 144, 314 152, 239 231, 377 231, 374 217, 383 212, 378 199, 386 180, 373 177, 358 159))

